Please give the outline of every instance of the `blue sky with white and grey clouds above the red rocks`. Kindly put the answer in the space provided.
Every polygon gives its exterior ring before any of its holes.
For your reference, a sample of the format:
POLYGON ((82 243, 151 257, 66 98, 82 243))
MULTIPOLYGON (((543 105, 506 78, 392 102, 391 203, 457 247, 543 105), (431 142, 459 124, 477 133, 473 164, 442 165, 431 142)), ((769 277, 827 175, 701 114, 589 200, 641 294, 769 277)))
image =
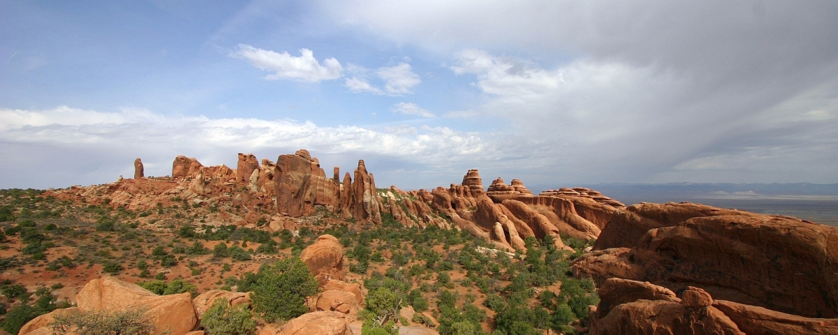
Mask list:
POLYGON ((0 0, 0 188, 305 148, 379 188, 838 183, 838 2, 0 0))

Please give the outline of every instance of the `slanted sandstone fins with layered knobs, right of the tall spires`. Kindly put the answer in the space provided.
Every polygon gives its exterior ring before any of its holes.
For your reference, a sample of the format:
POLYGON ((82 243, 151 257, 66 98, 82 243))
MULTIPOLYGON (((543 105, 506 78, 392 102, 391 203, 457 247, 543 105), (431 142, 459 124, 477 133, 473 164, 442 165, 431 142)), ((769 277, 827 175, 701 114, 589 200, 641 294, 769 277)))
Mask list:
POLYGON ((507 185, 497 178, 484 192, 478 171, 469 170, 462 185, 437 188, 427 195, 419 193, 417 198, 450 218, 454 226, 492 240, 501 249, 524 249, 526 237, 543 239, 550 235, 557 248, 570 250, 560 235, 595 239, 611 215, 623 206, 596 191, 579 189, 586 192, 568 188, 572 194, 547 192, 534 196, 518 179, 507 185))

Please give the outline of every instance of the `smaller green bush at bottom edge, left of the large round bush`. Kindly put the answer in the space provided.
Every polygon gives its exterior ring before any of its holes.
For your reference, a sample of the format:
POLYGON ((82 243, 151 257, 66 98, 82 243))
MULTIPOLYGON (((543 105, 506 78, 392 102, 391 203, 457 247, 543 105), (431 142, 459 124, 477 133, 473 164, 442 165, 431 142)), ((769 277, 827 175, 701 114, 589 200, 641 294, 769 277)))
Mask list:
POLYGON ((225 298, 215 299, 201 317, 201 326, 209 335, 246 335, 256 329, 256 322, 251 318, 251 311, 246 305, 230 307, 225 298))

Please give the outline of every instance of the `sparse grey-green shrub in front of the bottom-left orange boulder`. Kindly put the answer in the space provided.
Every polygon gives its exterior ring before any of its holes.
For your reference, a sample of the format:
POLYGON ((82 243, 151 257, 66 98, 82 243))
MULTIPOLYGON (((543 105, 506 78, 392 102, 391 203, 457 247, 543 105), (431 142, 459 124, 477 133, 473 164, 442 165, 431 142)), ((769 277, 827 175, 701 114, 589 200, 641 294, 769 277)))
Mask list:
POLYGON ((152 320, 142 310, 120 312, 70 312, 57 315, 49 327, 57 333, 146 335, 154 331, 152 320))

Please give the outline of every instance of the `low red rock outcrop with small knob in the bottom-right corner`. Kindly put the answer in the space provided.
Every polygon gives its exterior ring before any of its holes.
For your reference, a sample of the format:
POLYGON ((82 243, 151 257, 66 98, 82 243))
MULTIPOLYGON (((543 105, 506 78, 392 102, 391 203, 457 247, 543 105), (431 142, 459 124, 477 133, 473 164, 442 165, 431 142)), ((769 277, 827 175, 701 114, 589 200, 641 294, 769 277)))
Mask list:
POLYGON ((838 319, 799 317, 715 300, 694 286, 680 298, 649 282, 611 278, 599 290, 591 334, 835 334, 838 319))

